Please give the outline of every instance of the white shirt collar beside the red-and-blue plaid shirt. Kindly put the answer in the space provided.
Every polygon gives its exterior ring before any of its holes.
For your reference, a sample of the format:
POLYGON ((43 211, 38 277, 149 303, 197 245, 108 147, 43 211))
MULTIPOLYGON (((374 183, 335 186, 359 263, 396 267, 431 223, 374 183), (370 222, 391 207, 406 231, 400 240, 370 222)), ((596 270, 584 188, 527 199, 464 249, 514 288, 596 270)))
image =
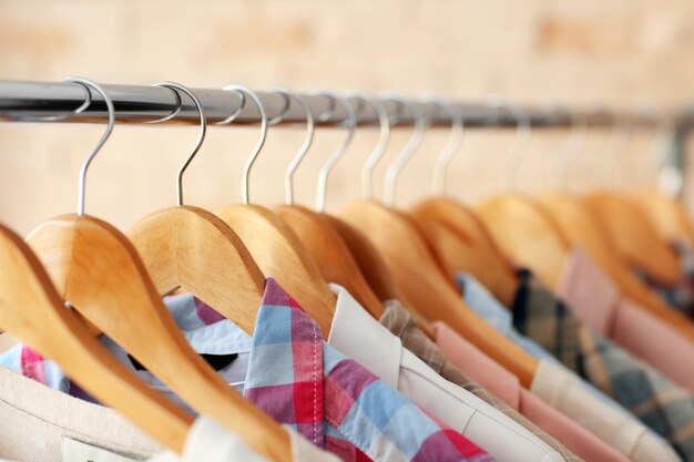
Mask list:
POLYGON ((398 389, 402 343, 390 333, 349 291, 330 284, 337 296, 328 345, 354 359, 387 384, 398 389))

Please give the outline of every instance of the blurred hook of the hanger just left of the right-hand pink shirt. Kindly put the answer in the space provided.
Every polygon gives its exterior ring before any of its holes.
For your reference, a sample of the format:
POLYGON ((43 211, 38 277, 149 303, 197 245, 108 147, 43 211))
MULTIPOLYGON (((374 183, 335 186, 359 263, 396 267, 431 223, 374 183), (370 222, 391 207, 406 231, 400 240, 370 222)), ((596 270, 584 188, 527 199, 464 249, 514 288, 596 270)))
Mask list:
POLYGON ((530 151, 530 140, 532 136, 532 125, 530 115, 522 107, 511 103, 506 97, 493 96, 492 106, 503 109, 516 120, 516 138, 513 145, 503 158, 501 167, 501 188, 516 191, 516 175, 523 157, 530 151))

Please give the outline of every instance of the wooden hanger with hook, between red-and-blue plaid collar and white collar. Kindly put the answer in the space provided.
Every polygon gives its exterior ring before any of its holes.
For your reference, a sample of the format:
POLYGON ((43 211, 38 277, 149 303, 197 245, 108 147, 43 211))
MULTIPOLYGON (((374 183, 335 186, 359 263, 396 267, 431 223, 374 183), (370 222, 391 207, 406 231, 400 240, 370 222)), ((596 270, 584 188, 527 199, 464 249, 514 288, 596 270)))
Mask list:
MULTIPOLYGON (((241 85, 226 86, 225 90, 243 93, 253 100, 261 112, 262 123, 261 137, 246 162, 243 175, 243 204, 228 206, 217 212, 216 215, 242 238, 263 273, 277 279, 318 322, 323 335, 327 336, 333 325, 337 299, 320 274, 316 261, 304 247, 299 236, 278 214, 265 207, 248 204, 251 168, 265 144, 267 126, 279 122, 283 114, 268 121, 265 109, 255 92, 241 85)), ((292 103, 290 97, 295 93, 285 89, 278 89, 276 92, 286 97, 288 110, 292 103)))

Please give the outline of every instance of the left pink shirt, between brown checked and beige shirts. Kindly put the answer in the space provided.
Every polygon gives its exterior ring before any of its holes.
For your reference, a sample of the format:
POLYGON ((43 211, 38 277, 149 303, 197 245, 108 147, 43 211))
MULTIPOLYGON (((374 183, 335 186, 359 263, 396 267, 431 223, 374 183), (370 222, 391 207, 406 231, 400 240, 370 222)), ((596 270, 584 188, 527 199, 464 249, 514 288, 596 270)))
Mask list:
POLYGON ((452 365, 499 399, 561 441, 585 461, 629 462, 629 459, 591 434, 540 398, 521 387, 518 378, 499 366, 443 322, 435 322, 436 342, 452 365))

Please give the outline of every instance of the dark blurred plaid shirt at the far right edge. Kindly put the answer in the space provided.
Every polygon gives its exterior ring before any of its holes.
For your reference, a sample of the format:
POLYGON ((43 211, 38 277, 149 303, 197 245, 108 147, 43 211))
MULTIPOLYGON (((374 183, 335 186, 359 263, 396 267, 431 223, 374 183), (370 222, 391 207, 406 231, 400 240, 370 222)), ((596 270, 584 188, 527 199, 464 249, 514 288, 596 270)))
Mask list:
POLYGON ((680 257, 680 279, 676 286, 661 286, 643 271, 636 270, 635 274, 667 305, 694 318, 694 249, 685 242, 676 242, 672 247, 680 257))

